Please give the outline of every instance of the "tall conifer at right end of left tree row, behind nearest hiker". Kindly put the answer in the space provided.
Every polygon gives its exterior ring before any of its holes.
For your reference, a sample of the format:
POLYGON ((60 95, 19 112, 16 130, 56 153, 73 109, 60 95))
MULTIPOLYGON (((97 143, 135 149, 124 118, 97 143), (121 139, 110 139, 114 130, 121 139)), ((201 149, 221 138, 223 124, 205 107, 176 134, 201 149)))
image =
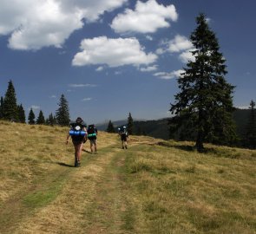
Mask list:
POLYGON ((59 108, 56 110, 56 122, 60 126, 69 126, 69 103, 62 94, 60 102, 58 103, 59 108))

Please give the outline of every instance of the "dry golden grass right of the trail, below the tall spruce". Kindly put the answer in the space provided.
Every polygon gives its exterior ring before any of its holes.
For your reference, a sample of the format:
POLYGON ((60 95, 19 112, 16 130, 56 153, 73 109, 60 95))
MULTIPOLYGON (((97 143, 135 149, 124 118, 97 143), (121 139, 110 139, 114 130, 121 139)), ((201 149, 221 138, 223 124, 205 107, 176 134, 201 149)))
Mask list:
POLYGON ((201 154, 191 143, 164 143, 136 146, 128 158, 143 220, 137 233, 145 223, 146 233, 255 233, 255 152, 208 145, 201 154))

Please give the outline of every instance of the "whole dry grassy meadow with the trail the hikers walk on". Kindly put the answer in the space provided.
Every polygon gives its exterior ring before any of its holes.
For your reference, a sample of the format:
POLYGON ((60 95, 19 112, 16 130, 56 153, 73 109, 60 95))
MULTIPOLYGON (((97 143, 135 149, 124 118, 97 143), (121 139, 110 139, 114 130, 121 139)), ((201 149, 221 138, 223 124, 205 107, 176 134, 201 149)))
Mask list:
POLYGON ((0 121, 0 233, 256 233, 256 151, 0 121))

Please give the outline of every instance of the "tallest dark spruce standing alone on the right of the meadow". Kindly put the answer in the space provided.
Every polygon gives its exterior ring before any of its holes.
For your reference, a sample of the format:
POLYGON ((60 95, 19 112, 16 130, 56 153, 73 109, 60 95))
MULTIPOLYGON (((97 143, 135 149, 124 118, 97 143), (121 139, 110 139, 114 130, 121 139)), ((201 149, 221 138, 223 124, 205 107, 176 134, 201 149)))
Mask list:
POLYGON ((183 128, 194 135, 201 152, 205 142, 230 145, 236 140, 233 114, 233 86, 226 82, 226 65, 219 42, 209 29, 206 16, 196 17, 197 28, 190 36, 194 62, 189 61, 179 77, 181 92, 175 95, 170 112, 175 114, 170 129, 183 128))

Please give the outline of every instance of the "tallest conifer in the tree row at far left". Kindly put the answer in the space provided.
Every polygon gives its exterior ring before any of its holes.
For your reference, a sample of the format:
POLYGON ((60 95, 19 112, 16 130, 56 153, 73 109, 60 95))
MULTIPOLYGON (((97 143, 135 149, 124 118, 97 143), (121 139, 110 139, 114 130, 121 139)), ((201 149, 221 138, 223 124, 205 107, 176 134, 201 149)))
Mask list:
POLYGON ((16 93, 12 81, 8 83, 8 88, 3 100, 3 119, 12 121, 18 120, 16 93))

